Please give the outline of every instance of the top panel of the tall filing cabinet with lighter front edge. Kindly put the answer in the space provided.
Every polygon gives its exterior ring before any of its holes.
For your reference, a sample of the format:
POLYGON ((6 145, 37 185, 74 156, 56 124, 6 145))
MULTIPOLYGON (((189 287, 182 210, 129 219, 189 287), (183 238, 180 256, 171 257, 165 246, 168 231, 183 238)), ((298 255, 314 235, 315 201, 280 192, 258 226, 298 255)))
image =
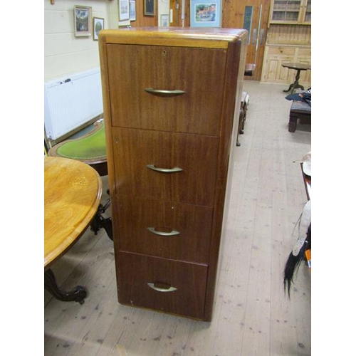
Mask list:
POLYGON ((247 38, 243 28, 183 28, 183 27, 135 27, 102 30, 102 43, 135 43, 179 46, 209 46, 226 48, 229 42, 247 38))

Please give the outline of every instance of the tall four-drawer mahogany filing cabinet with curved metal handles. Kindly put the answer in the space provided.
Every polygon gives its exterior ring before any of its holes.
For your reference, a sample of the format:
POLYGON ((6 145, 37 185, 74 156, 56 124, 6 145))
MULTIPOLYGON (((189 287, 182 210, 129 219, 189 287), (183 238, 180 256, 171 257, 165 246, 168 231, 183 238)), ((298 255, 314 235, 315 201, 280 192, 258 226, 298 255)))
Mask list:
POLYGON ((119 303, 209 321, 247 31, 100 31, 119 303))

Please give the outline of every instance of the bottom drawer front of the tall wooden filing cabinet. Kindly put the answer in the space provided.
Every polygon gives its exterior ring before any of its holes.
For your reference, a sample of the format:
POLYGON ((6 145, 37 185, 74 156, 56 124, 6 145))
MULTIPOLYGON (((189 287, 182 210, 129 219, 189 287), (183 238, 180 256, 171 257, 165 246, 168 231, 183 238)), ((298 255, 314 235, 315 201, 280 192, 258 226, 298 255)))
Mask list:
POLYGON ((204 318, 207 266, 124 252, 116 261, 120 303, 204 318))

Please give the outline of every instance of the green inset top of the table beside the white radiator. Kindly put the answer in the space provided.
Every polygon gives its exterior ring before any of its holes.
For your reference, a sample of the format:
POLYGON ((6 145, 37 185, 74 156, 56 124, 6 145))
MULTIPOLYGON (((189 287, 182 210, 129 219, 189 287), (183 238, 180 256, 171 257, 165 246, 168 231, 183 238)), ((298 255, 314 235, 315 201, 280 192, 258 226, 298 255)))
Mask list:
POLYGON ((99 129, 89 132, 81 138, 63 142, 57 149, 61 157, 72 159, 105 159, 105 127, 100 123, 99 129))

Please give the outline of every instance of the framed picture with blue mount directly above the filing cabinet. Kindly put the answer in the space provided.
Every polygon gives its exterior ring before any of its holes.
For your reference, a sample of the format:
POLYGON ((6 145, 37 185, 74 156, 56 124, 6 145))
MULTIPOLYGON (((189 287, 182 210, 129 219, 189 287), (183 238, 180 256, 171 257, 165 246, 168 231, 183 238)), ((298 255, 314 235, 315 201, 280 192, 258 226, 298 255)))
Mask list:
POLYGON ((221 0, 190 0, 191 27, 221 27, 221 0))

